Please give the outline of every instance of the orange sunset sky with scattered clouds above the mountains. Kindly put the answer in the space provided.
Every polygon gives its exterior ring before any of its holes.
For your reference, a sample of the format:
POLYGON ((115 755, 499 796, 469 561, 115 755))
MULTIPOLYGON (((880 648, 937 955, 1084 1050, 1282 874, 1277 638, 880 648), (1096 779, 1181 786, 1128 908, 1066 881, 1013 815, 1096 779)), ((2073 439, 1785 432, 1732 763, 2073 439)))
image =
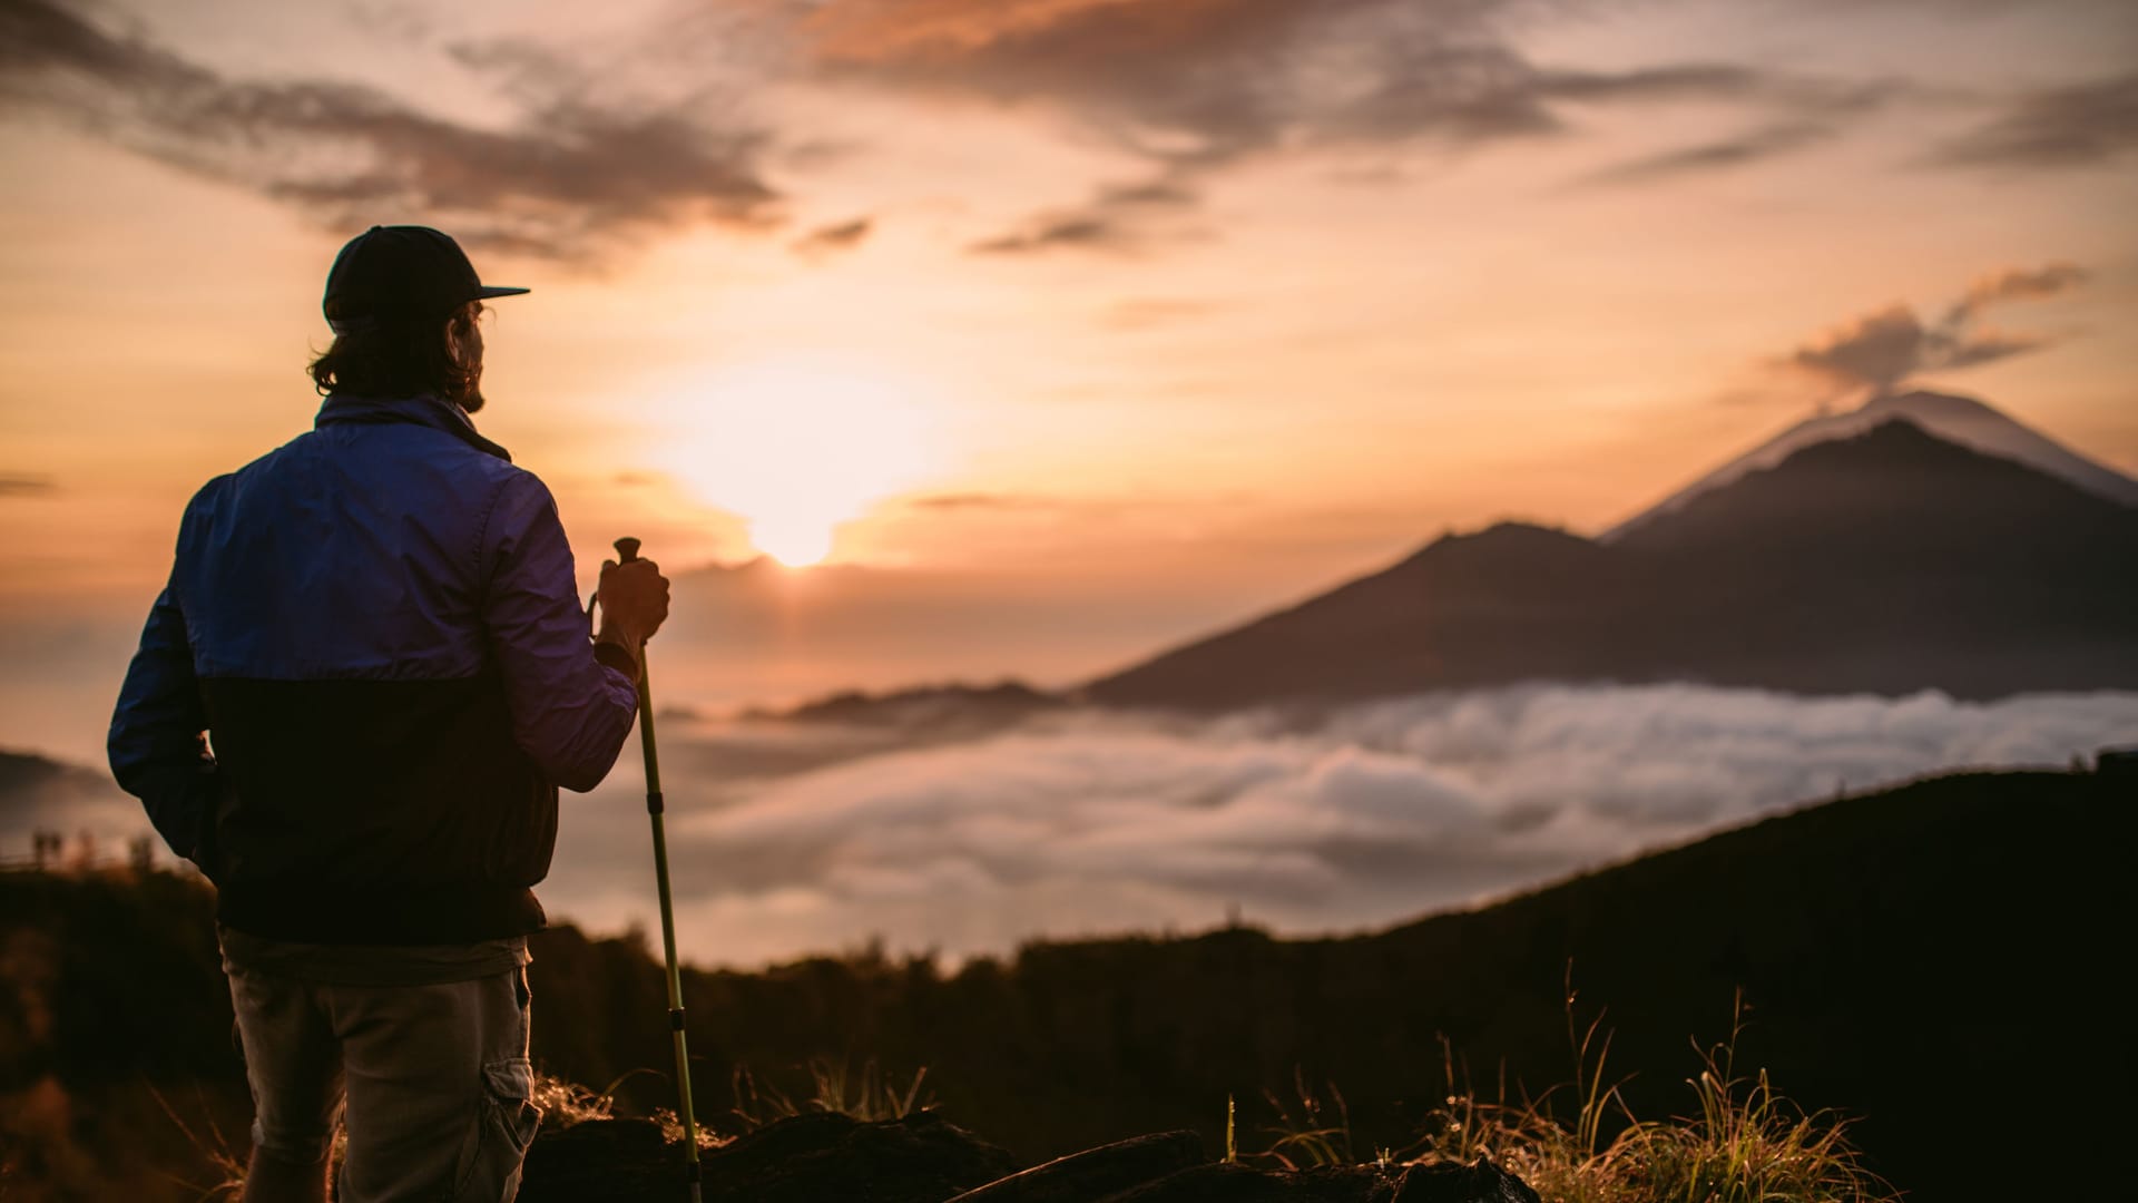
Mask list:
POLYGON ((372 223, 534 289, 481 428, 584 576, 921 608, 697 700, 1073 681, 1899 379, 2138 473, 2134 64, 2127 0, 0 0, 0 745, 94 756, 372 223))

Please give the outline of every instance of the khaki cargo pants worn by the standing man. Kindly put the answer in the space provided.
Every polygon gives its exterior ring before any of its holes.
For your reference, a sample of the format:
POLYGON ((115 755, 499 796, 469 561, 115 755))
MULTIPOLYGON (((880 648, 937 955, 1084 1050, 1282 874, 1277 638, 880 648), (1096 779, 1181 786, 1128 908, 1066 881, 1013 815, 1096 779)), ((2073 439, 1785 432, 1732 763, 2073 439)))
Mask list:
POLYGON ((526 970, 421 987, 229 976, 261 1156, 321 1164, 342 1120, 342 1203, 520 1192, 541 1122, 526 970))

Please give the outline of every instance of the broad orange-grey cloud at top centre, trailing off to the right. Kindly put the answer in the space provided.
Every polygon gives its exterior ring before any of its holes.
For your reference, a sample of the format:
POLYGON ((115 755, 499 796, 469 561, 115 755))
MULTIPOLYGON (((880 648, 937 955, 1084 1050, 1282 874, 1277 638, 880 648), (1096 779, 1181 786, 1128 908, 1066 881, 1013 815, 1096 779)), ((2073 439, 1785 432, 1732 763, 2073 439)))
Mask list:
MULTIPOLYGON (((817 73, 915 94, 1056 113, 1195 182, 1249 156, 1317 146, 1473 148, 1565 135, 1569 109, 1730 103, 1783 113, 1764 152, 1807 146, 1896 90, 1715 62, 1574 71, 1507 41, 1529 6, 1507 0, 849 0, 797 24, 817 73), (1794 126, 1792 126, 1794 122, 1794 126)), ((1723 167, 1708 148, 1651 178, 1723 167)), ((1633 176, 1640 176, 1638 171, 1633 176)), ((1148 242, 1107 197, 1050 210, 981 240, 979 253, 1129 250, 1148 242)))

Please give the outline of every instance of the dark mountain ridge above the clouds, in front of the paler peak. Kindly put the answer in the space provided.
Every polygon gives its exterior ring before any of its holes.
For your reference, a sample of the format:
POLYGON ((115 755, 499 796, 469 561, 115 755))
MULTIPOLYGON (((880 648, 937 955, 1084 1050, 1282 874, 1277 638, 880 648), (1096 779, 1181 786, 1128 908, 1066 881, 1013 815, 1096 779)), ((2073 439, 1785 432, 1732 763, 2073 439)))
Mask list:
POLYGON ((1888 422, 1612 544, 1518 524, 1450 535, 1086 696, 1223 709, 1516 681, 2138 685, 2138 509, 1888 422))

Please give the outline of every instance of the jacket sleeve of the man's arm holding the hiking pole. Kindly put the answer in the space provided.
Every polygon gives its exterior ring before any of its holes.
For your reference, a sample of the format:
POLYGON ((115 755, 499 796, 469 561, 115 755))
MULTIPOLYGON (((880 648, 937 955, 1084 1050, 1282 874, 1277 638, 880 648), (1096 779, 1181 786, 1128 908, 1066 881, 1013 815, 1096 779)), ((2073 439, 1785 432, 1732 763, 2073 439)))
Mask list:
POLYGON ((592 790, 609 775, 639 709, 637 683, 594 659, 571 544, 549 488, 515 471, 483 535, 483 623, 505 674, 513 738, 545 777, 592 790))

